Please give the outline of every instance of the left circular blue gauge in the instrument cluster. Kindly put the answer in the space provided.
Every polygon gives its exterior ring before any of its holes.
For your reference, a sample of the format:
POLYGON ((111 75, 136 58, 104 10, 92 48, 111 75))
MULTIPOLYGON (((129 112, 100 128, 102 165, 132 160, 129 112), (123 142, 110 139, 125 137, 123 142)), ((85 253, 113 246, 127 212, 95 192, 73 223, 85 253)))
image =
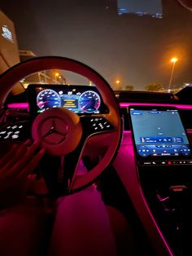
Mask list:
POLYGON ((55 90, 41 90, 37 95, 37 106, 41 110, 61 107, 61 98, 55 90))

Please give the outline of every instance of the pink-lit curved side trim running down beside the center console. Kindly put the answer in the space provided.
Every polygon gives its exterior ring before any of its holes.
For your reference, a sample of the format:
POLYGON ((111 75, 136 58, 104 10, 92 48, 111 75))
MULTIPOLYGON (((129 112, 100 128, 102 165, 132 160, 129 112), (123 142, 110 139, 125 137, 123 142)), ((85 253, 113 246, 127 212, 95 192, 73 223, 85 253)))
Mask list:
MULTIPOLYGON (((130 130, 124 131, 124 138, 122 141, 122 146, 120 147, 119 158, 117 157, 116 161, 119 161, 120 164, 120 162, 126 157, 129 157, 129 160, 127 159, 126 165, 124 165, 124 167, 121 166, 119 174, 122 178, 125 188, 128 189, 129 195, 133 201, 133 205, 137 210, 137 214, 142 219, 142 222, 144 223, 144 226, 148 232, 150 232, 153 242, 155 243, 155 240, 159 240, 160 237, 161 241, 159 241, 159 245, 164 246, 164 249, 167 251, 168 255, 173 256, 174 254, 172 253, 172 249, 168 245, 168 242, 166 241, 158 223, 156 223, 154 215, 152 214, 151 209, 149 208, 149 205, 146 201, 146 197, 143 194, 141 184, 137 179, 137 167, 134 161, 133 142, 131 139, 130 130), (127 172, 127 166, 129 166, 129 169, 132 170, 129 173, 127 172), (155 230, 157 233, 159 233, 159 237, 154 233, 155 230)), ((118 167, 116 166, 116 168, 118 167)))

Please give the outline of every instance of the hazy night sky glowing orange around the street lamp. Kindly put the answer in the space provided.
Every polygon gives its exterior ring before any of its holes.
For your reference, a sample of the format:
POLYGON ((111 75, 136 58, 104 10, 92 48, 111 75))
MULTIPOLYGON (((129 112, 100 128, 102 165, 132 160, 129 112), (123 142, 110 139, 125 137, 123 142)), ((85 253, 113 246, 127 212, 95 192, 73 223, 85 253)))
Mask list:
MULTIPOLYGON (((142 0, 141 0, 142 1, 142 0)), ((163 19, 118 15, 116 0, 6 0, 0 9, 15 23, 20 49, 67 56, 88 64, 114 85, 143 90, 192 82, 192 13, 163 0, 163 19)))

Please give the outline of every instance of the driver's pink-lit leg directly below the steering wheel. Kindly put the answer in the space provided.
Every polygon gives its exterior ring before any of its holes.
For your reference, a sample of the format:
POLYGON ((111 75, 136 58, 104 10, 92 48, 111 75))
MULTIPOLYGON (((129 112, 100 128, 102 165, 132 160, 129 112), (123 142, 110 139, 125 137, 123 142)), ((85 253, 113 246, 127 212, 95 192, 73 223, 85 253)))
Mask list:
POLYGON ((94 186, 59 199, 49 253, 55 256, 116 255, 107 210, 94 186))

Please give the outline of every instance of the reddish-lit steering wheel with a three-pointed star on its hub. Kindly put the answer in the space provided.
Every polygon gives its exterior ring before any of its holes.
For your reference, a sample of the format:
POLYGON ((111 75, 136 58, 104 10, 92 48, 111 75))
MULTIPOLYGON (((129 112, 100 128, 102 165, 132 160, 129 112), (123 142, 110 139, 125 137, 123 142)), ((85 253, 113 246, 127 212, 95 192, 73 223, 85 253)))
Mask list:
MULTIPOLYGON (((116 96, 103 77, 87 65, 63 57, 33 58, 8 69, 0 76, 0 104, 5 103, 16 82, 32 73, 48 69, 64 69, 88 78, 97 86, 108 108, 108 113, 89 116, 78 116, 66 108, 50 108, 33 121, 33 139, 40 139, 41 147, 45 148, 48 154, 63 157, 63 170, 59 176, 57 174, 59 179, 55 181, 56 193, 61 196, 93 183, 111 163, 120 146, 122 119, 116 96), (94 136, 104 134, 109 136, 104 156, 92 170, 77 175, 77 167, 86 143, 94 136)), ((98 143, 99 141, 98 139, 98 143)))

